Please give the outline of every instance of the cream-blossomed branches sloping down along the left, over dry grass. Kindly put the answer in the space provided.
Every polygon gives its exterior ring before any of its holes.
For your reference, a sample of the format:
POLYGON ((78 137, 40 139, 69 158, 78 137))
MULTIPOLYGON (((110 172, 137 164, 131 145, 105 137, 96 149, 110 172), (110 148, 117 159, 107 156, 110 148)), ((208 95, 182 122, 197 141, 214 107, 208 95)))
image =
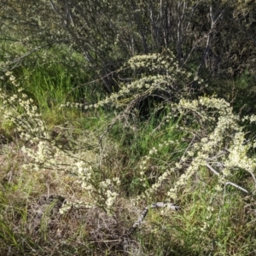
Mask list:
MULTIPOLYGON (((119 189, 119 177, 101 177, 97 163, 99 155, 96 152, 77 148, 66 150, 57 144, 55 139, 50 137, 38 107, 26 96, 12 73, 6 75, 17 90, 11 96, 1 90, 0 97, 3 102, 0 110, 3 118, 9 119, 15 125, 20 139, 25 142, 21 149, 29 160, 23 168, 35 172, 55 169, 75 175, 81 188, 88 192, 88 200, 77 202, 76 205, 83 203, 86 207, 102 207, 110 213, 118 196, 116 191, 119 189)), ((80 143, 83 143, 82 140, 80 143)), ((67 205, 71 206, 68 203, 67 205)))

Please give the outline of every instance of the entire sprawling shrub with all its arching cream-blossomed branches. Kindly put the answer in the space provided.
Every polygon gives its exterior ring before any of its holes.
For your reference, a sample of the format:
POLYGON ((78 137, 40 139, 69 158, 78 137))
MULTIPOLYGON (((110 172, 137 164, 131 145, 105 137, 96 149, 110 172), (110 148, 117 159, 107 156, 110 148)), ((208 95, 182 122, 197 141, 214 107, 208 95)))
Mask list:
MULTIPOLYGON (((128 67, 134 73, 130 83, 121 83, 118 93, 113 93, 85 108, 99 108, 105 104, 125 107, 125 111, 120 111, 119 117, 129 119, 129 113, 135 108, 136 102, 141 101, 143 97, 156 93, 163 96, 164 94, 160 94, 159 91, 167 92, 166 95, 174 95, 175 101, 173 97, 168 99, 166 96, 162 108, 168 107, 172 110, 166 114, 159 128, 168 129, 171 122, 173 132, 189 139, 185 149, 180 148, 181 141, 177 139, 161 142, 158 147, 148 150, 148 154, 143 156, 138 167, 144 191, 137 196, 137 201, 147 201, 148 204, 154 199, 157 200, 159 195, 161 200, 175 201, 183 189, 190 189, 189 180, 198 175, 201 169, 208 169, 218 177, 216 191, 222 191, 224 186, 232 185, 247 192, 247 189, 230 181, 233 173, 240 169, 248 172, 256 185, 254 177, 256 162, 249 154, 255 142, 251 143, 247 140, 246 131, 241 125, 245 121, 254 122, 254 116, 241 119, 238 114, 233 113, 230 104, 224 99, 212 96, 189 99, 192 84, 203 84, 203 80, 179 68, 171 52, 163 55, 135 56, 128 61, 128 67), (162 148, 168 149, 165 151, 168 152, 166 154, 172 151, 182 151, 182 154, 176 162, 161 162, 160 168, 164 169, 164 172, 158 172, 152 183, 149 182, 147 170, 151 159, 161 160, 162 148), (171 178, 174 173, 179 174, 175 182, 171 178)), ((111 213, 114 202, 120 195, 122 181, 119 177, 109 177, 108 173, 102 174, 102 166, 99 162, 104 156, 101 150, 94 151, 94 156, 91 157, 86 149, 61 148, 50 137, 38 108, 23 92, 15 77, 11 73, 6 75, 15 85, 16 93, 9 96, 1 90, 3 100, 1 112, 4 118, 14 123, 17 131, 20 132, 20 137, 27 142, 22 150, 30 160, 24 167, 34 171, 55 168, 72 173, 87 193, 84 201, 78 203, 83 203, 86 207, 102 207, 106 212, 111 213)), ((70 106, 81 107, 78 103, 70 102, 62 107, 70 106)), ((113 125, 116 120, 111 120, 110 124, 113 125)), ((101 143, 98 143, 98 148, 101 148, 101 143)))

